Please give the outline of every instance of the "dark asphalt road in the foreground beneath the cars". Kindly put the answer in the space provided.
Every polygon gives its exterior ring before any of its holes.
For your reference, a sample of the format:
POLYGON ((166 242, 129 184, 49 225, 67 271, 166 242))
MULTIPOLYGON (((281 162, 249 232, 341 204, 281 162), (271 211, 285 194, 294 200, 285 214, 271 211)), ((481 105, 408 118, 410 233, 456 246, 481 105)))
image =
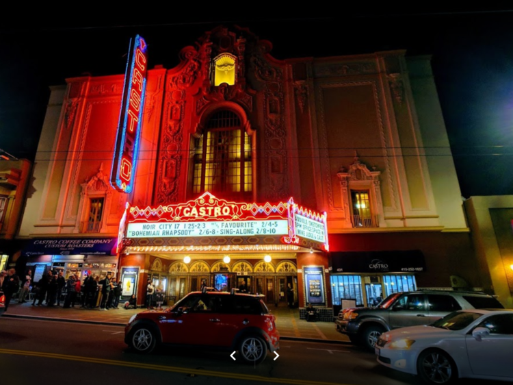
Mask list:
POLYGON ((269 353, 254 367, 234 361, 230 353, 194 349, 159 349, 142 356, 127 349, 123 337, 122 327, 2 318, 1 383, 419 384, 417 377, 382 367, 373 354, 347 344, 282 340, 276 360, 269 353))

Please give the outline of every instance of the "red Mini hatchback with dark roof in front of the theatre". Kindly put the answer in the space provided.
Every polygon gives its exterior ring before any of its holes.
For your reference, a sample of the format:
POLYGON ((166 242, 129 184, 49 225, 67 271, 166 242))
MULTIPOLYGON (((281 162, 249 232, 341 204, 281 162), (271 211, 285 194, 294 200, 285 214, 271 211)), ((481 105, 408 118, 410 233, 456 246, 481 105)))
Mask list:
POLYGON ((157 345, 238 351, 242 361, 262 362, 267 351, 280 347, 275 316, 259 295, 192 292, 172 308, 135 314, 124 330, 124 341, 139 353, 157 345))

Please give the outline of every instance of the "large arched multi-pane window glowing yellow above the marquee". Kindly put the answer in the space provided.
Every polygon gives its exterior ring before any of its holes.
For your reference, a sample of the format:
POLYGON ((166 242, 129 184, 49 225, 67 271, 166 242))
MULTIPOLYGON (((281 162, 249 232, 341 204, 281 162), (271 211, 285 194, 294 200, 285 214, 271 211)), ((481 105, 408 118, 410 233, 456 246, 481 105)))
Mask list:
POLYGON ((251 142, 237 114, 215 112, 194 145, 194 195, 209 191, 224 198, 252 197, 251 142))

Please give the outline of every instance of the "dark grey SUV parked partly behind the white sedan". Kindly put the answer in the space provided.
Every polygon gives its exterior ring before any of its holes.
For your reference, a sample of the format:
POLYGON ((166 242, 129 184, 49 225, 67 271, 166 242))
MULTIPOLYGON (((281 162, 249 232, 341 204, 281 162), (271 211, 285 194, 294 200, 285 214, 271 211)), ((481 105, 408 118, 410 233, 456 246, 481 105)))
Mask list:
POLYGON ((394 293, 375 308, 349 308, 339 312, 336 329, 352 343, 373 351, 376 340, 388 330, 428 325, 455 310, 504 308, 485 293, 448 290, 418 290, 394 293))

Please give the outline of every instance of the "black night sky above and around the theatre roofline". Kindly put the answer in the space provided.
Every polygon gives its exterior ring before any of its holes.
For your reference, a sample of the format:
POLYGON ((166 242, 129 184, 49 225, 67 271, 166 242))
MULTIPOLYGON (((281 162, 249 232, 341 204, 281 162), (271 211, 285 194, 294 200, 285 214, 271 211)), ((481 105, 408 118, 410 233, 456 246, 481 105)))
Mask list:
POLYGON ((0 149, 34 160, 49 86, 86 73, 123 73, 135 34, 148 42, 149 68, 172 68, 179 50, 203 32, 236 24, 270 40, 277 59, 389 49, 432 55, 462 195, 513 194, 512 10, 475 5, 338 12, 172 17, 155 10, 163 16, 129 19, 90 11, 94 17, 86 21, 54 15, 36 23, 8 18, 0 23, 0 149))

